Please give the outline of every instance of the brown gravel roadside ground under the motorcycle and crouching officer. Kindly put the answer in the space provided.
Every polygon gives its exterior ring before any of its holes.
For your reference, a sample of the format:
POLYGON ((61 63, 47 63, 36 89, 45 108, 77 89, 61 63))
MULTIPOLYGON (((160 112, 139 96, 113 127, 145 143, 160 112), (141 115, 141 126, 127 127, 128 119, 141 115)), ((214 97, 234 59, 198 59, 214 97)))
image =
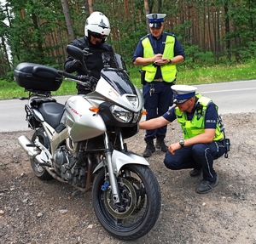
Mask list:
MULTIPOLYGON (((168 170, 160 150, 148 158, 160 184, 160 218, 148 235, 130 242, 114 239, 98 223, 90 191, 34 176, 17 141, 31 132, 0 133, 0 243, 256 244, 256 113, 225 114, 223 120, 230 154, 215 161, 219 184, 207 195, 195 193, 200 177, 168 170)), ((143 135, 126 140, 129 150, 142 155, 143 135)), ((167 145, 181 136, 177 122, 168 125, 167 145)))

